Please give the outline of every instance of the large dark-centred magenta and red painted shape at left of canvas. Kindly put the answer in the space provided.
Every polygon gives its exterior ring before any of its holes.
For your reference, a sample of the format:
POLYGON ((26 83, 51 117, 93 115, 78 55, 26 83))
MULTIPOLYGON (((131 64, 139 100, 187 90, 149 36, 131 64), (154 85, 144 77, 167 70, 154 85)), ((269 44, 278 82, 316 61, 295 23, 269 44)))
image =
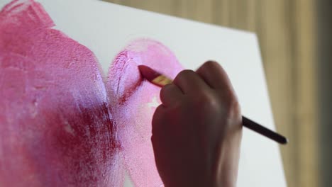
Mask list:
POLYGON ((93 53, 35 1, 0 12, 0 186, 121 186, 93 53))

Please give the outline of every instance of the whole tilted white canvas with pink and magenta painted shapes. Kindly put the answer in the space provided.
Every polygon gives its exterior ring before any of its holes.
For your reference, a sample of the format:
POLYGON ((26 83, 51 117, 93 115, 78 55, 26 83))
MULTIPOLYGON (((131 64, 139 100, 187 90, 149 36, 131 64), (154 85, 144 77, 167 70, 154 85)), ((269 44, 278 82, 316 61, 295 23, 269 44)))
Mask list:
MULTIPOLYGON (((162 186, 150 143, 160 88, 139 64, 174 78, 225 61, 243 112, 273 128, 251 33, 94 0, 0 7, 0 186, 162 186)), ((277 145, 251 133, 238 186, 286 186, 277 145)))

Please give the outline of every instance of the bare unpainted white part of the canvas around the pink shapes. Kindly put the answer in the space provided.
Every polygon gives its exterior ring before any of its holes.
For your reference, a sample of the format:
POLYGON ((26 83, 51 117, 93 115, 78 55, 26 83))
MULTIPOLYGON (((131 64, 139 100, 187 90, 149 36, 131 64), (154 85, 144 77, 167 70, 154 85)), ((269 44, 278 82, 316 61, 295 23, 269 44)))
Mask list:
MULTIPOLYGON (((220 62, 231 77, 243 115, 275 129, 255 34, 96 0, 40 2, 55 28, 94 52, 104 73, 117 52, 135 38, 162 42, 187 69, 197 69, 206 60, 220 62)), ((0 7, 7 3, 0 0, 0 7)), ((244 129, 241 149, 238 186, 286 186, 275 142, 244 129)))

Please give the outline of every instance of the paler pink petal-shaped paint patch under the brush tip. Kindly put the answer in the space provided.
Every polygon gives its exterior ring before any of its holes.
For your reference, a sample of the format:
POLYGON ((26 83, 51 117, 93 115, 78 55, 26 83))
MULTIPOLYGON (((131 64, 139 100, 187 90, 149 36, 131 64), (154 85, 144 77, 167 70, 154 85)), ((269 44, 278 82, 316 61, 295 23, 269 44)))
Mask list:
POLYGON ((121 157, 135 186, 162 186, 150 141, 151 120, 160 105, 160 88, 143 80, 144 64, 174 78, 182 70, 160 42, 136 40, 120 52, 109 69, 107 89, 121 142, 121 157))

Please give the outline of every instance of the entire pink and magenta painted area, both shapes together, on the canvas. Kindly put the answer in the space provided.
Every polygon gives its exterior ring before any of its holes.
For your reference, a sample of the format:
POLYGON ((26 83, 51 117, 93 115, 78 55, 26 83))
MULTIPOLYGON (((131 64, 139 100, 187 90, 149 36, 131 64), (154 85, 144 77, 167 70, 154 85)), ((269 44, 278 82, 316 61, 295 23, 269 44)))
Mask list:
POLYGON ((106 86, 96 57, 33 0, 0 12, 0 186, 162 186, 150 142, 160 88, 144 64, 174 78, 167 47, 135 40, 106 86))

